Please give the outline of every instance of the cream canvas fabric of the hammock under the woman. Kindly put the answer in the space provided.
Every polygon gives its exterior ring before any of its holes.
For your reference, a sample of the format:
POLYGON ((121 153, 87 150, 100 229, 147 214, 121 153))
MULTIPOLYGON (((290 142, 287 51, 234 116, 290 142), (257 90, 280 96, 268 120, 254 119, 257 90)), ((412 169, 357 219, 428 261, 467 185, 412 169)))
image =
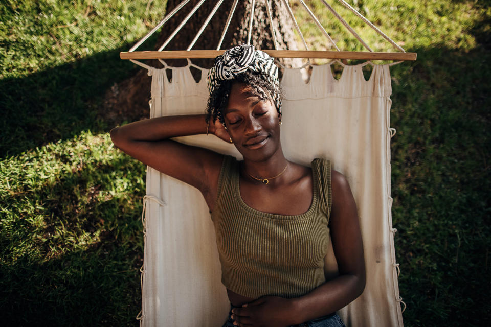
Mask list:
MULTIPOLYGON (((151 68, 151 117, 203 113, 206 74, 196 83, 188 67, 151 68)), ((286 69, 281 141, 289 160, 309 165, 330 159, 351 186, 359 210, 367 283, 364 293, 340 315, 347 326, 403 326, 397 285, 390 197, 391 106, 387 65, 375 65, 370 79, 362 67, 344 67, 332 77, 330 65, 314 66, 308 84, 300 71, 286 69)), ((178 141, 240 154, 213 135, 178 141)), ((230 303, 208 207, 199 191, 147 168, 145 249, 142 270, 143 326, 221 326, 230 303)), ((336 260, 326 257, 326 276, 336 275, 336 260)))

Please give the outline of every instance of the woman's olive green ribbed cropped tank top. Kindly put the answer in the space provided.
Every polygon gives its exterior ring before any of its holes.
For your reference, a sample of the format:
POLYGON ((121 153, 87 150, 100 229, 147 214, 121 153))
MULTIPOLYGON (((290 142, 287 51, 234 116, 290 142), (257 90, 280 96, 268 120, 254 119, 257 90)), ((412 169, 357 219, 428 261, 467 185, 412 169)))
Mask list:
POLYGON ((225 156, 211 218, 221 263, 221 282, 233 292, 258 298, 304 295, 325 283, 329 241, 331 165, 314 159, 314 196, 300 215, 264 213, 244 203, 239 165, 225 156))

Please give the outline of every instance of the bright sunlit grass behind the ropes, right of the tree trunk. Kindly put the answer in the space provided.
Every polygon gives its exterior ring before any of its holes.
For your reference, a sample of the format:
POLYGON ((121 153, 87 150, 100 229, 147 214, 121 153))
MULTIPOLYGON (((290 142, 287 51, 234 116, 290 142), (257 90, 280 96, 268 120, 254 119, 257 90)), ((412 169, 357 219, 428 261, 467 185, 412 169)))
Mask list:
MULTIPOLYGON (((309 0, 305 3, 340 50, 368 51, 321 0, 309 0)), ((373 51, 399 51, 339 2, 330 1, 328 3, 373 51)), ((471 31, 474 22, 485 19, 489 15, 489 9, 473 6, 474 2, 465 1, 365 0, 348 3, 406 51, 429 46, 435 41, 448 49, 474 49, 477 45, 471 31)), ((309 49, 336 50, 304 7, 299 2, 294 2, 292 5, 295 16, 302 21, 300 30, 309 44, 309 49)), ((302 44, 296 30, 295 33, 298 43, 302 44)), ((303 45, 300 46, 303 47, 303 45)), ((314 61, 324 62, 323 60, 314 61)))

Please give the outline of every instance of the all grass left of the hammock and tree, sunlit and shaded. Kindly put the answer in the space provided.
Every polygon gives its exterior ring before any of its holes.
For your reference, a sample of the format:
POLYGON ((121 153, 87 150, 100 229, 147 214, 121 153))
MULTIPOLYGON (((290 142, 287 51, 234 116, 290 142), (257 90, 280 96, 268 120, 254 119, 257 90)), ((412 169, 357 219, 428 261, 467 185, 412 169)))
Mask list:
POLYGON ((112 148, 98 111, 136 72, 119 51, 165 3, 0 5, 3 325, 138 323, 145 167, 112 148))

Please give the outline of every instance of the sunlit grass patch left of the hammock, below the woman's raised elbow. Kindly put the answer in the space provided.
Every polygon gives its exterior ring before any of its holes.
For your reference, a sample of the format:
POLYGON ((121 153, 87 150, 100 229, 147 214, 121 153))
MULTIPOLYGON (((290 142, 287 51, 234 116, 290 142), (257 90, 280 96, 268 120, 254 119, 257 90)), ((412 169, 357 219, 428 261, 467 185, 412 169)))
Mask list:
POLYGON ((11 240, 5 263, 25 255, 50 260, 97 244, 101 234, 118 239, 141 227, 144 167, 114 149, 108 134, 84 132, 4 159, 0 174, 3 235, 11 240), (128 229, 126 218, 137 223, 128 229), (26 240, 29 250, 20 246, 26 240))

